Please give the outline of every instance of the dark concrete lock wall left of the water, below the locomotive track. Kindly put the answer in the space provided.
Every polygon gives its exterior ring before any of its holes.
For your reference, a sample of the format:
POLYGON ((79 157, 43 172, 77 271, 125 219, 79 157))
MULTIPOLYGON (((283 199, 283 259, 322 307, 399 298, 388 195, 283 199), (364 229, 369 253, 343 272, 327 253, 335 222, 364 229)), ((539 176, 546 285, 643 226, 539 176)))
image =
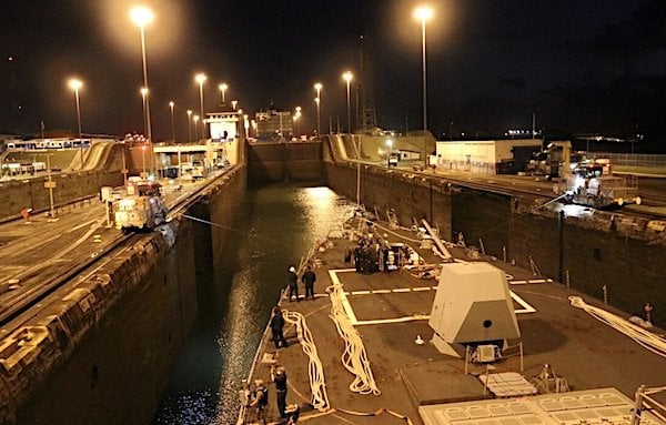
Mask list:
MULTIPOLYGON (((228 201, 244 196, 245 170, 219 179, 188 213, 232 223, 241 202, 228 201)), ((85 290, 36 317, 48 337, 0 370, 0 423, 150 423, 196 314, 202 270, 226 241, 210 229, 181 217, 137 236, 85 290)))

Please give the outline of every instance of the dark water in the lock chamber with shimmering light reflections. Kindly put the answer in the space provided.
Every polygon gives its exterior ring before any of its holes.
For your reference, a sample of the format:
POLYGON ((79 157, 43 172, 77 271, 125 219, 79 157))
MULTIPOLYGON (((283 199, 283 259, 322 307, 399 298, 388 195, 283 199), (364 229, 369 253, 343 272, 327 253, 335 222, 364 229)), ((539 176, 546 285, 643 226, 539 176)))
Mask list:
POLYGON ((154 424, 234 424, 271 306, 299 265, 351 205, 327 188, 254 189, 199 296, 199 317, 181 352, 154 424))

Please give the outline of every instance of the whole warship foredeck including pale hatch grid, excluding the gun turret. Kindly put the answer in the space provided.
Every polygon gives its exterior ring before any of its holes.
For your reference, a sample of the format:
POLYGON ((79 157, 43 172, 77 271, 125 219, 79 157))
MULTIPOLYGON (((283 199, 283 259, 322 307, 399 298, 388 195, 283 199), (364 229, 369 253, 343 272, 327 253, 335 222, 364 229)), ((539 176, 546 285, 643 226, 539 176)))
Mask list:
MULTIPOLYGON (((355 230, 335 232, 315 253, 315 300, 289 302, 282 297, 280 306, 287 318, 284 334, 289 346, 276 350, 270 331, 264 334, 249 382, 261 378, 269 387, 265 423, 285 423, 276 407, 271 364, 285 368, 286 402, 300 406, 299 423, 307 424, 628 424, 636 389, 640 385, 654 388, 666 384, 666 358, 572 306, 569 296, 581 296, 586 303, 623 318, 627 318, 626 314, 531 271, 451 244, 447 247, 456 261, 486 261, 506 272, 522 347, 514 345, 490 363, 471 363, 464 357, 441 354, 431 343, 433 330, 427 321, 437 281, 417 277, 406 269, 356 273, 344 263, 345 249, 356 244, 349 236, 355 230), (331 291, 333 287, 341 290, 331 291), (332 308, 341 305, 365 350, 367 362, 361 355, 360 366, 366 374, 370 371, 373 382, 360 381, 343 365, 345 342, 331 317, 332 308), (291 323, 299 316, 294 312, 302 315, 307 327, 300 333, 311 335, 312 344, 305 344, 302 335, 297 335, 296 324, 291 323), (417 344, 418 337, 425 343, 417 344), (312 352, 314 361, 306 354, 312 352), (503 397, 501 392, 495 391, 494 395, 485 387, 485 376, 506 373, 523 376, 535 395, 503 397), (568 387, 569 393, 555 394, 555 383, 568 387), (352 392, 352 387, 370 394, 352 392), (548 415, 544 406, 553 407, 553 403, 559 403, 557 397, 565 397, 568 404, 564 406, 569 408, 555 407, 556 414, 552 409, 548 415), (582 406, 581 397, 591 404, 586 411, 572 407, 582 406), (589 402, 592 398, 596 402, 589 402), (512 412, 511 405, 519 405, 512 417, 506 413, 512 412), (545 413, 536 412, 534 406, 544 407, 545 413), (493 408, 503 413, 488 414, 493 408), (591 414, 589 408, 596 413, 591 414)), ((428 244, 420 243, 413 232, 391 230, 385 223, 376 223, 373 231, 389 243, 407 244, 426 264, 443 263, 432 249, 421 247, 428 244)), ((299 292, 302 298, 302 286, 299 292)), ((659 336, 659 330, 652 332, 659 336)), ((663 393, 655 397, 662 397, 659 401, 664 403, 663 393)), ((644 423, 645 418, 646 415, 644 423)), ((659 423, 655 417, 650 421, 659 423)), ((262 422, 255 407, 241 408, 239 423, 262 422)))

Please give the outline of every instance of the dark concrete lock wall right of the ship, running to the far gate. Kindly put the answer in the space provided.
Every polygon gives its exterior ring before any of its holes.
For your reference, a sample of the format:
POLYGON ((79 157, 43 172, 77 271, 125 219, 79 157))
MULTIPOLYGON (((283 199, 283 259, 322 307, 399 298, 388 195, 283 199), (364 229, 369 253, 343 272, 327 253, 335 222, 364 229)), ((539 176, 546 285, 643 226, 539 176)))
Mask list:
MULTIPOLYGON (((630 315, 645 318, 646 303, 659 305, 652 321, 666 326, 666 281, 660 277, 666 234, 654 230, 658 227, 647 220, 623 221, 597 212, 598 219, 567 217, 561 225, 554 213, 533 212, 535 205, 527 200, 448 185, 442 180, 430 184, 414 174, 405 179, 363 165, 361 170, 361 202, 370 211, 376 208, 382 219, 391 209, 403 225, 430 217, 442 237, 454 240, 462 232, 467 245, 481 249, 483 244, 497 261, 506 253, 507 262, 528 270, 534 264, 541 275, 561 279, 563 284, 598 300, 604 298, 605 286, 608 304, 630 315)), ((331 189, 356 199, 355 164, 327 162, 325 174, 331 189)))

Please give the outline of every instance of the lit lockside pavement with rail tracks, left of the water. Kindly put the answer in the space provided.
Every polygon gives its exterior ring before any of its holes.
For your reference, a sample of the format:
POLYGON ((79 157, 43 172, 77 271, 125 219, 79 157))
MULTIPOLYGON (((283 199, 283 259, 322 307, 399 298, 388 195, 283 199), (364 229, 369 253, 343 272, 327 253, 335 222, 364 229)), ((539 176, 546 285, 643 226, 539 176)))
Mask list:
MULTIPOLYGON (((218 172, 214 175, 220 175, 218 172)), ((172 210, 186 202, 210 180, 162 181, 162 193, 172 210)), ((38 214, 29 221, 0 225, 0 337, 11 333, 36 312, 26 314, 50 292, 65 285, 107 253, 131 245, 107 219, 99 199, 89 199, 57 217, 38 214)))

